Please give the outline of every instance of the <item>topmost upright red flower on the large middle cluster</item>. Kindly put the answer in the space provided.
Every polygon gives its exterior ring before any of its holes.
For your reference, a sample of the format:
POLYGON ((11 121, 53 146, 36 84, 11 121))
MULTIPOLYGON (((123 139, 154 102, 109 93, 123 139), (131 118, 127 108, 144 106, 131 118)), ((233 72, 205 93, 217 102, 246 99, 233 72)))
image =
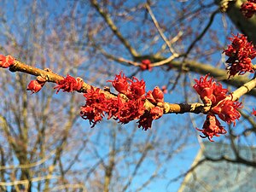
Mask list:
POLYGON ((128 94, 128 88, 130 86, 130 84, 128 83, 128 79, 125 77, 125 74, 123 74, 122 76, 122 72, 119 73, 119 75, 115 75, 115 79, 112 80, 108 80, 107 82, 111 82, 113 85, 113 88, 117 91, 119 91, 119 93, 122 94, 128 94))

